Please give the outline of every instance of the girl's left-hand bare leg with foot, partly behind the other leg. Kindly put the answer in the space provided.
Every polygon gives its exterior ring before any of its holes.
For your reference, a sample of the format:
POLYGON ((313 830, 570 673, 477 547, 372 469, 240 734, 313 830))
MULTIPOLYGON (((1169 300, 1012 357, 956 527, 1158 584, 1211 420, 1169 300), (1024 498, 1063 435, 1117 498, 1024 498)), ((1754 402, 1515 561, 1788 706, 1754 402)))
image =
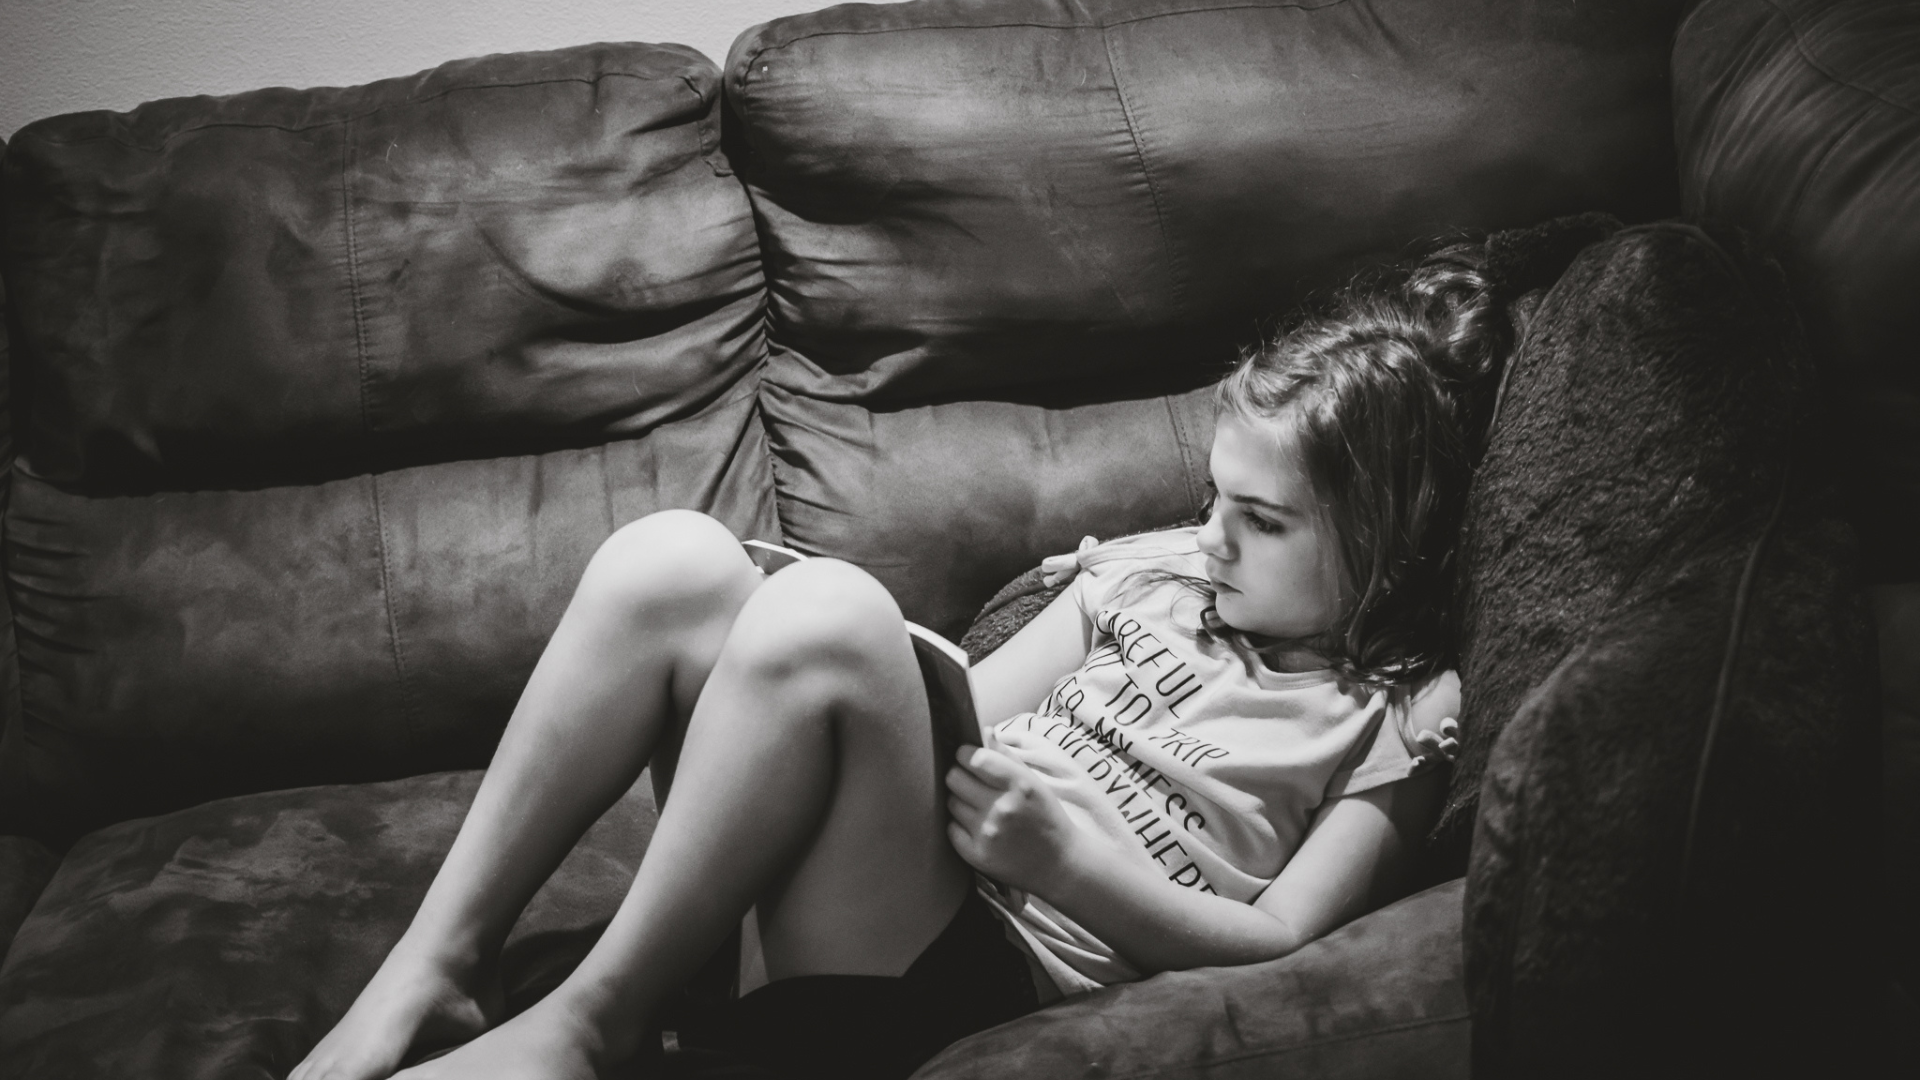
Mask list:
POLYGON ((684 719, 760 577, 718 521, 666 511, 593 555, 420 911, 292 1080, 374 1080, 499 1011, 513 920, 684 719))

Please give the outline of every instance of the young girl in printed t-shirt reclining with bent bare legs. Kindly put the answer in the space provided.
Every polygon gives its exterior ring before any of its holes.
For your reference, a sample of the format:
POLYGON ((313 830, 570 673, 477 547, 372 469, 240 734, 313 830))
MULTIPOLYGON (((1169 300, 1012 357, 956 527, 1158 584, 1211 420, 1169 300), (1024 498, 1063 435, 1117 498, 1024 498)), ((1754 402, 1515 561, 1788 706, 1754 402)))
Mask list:
POLYGON ((728 1045, 904 1076, 1064 994, 1275 959, 1400 896, 1457 709, 1455 398, 1503 327, 1450 250, 1248 350, 1206 525, 1083 552, 973 669, 991 730, 956 763, 872 577, 762 577, 687 511, 618 530, 413 924, 292 1080, 386 1078, 463 1040, 403 1076, 603 1076, 749 907, 772 982, 728 1045), (507 930, 649 761, 672 796, 624 903, 493 1026, 507 930))

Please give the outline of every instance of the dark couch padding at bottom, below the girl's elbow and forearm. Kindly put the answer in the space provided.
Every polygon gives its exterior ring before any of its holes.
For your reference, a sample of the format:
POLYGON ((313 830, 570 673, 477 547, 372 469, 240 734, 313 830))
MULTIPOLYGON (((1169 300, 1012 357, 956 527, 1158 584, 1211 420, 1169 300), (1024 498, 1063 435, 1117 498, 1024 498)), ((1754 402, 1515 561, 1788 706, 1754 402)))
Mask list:
POLYGON ((1277 961, 1158 974, 954 1043, 920 1080, 1467 1076, 1461 882, 1277 961))

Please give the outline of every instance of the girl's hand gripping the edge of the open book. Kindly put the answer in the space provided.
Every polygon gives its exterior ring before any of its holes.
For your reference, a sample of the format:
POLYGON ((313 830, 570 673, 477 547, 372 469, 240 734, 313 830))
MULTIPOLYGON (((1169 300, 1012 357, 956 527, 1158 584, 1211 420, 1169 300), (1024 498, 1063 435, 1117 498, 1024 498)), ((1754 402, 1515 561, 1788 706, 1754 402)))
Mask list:
POLYGON ((962 746, 947 792, 954 851, 996 882, 1046 896, 1077 836, 1046 782, 998 749, 962 746))

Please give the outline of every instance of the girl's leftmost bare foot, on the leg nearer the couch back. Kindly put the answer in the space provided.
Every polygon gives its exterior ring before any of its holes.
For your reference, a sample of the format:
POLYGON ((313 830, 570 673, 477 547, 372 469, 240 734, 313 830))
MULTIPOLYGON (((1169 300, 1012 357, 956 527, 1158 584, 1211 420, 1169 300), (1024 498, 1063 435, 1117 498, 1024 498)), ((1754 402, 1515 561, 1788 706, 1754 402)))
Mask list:
POLYGON ((409 1053, 455 1045, 501 1011, 499 978, 459 976, 397 945, 346 1017, 286 1080, 386 1080, 409 1053))

